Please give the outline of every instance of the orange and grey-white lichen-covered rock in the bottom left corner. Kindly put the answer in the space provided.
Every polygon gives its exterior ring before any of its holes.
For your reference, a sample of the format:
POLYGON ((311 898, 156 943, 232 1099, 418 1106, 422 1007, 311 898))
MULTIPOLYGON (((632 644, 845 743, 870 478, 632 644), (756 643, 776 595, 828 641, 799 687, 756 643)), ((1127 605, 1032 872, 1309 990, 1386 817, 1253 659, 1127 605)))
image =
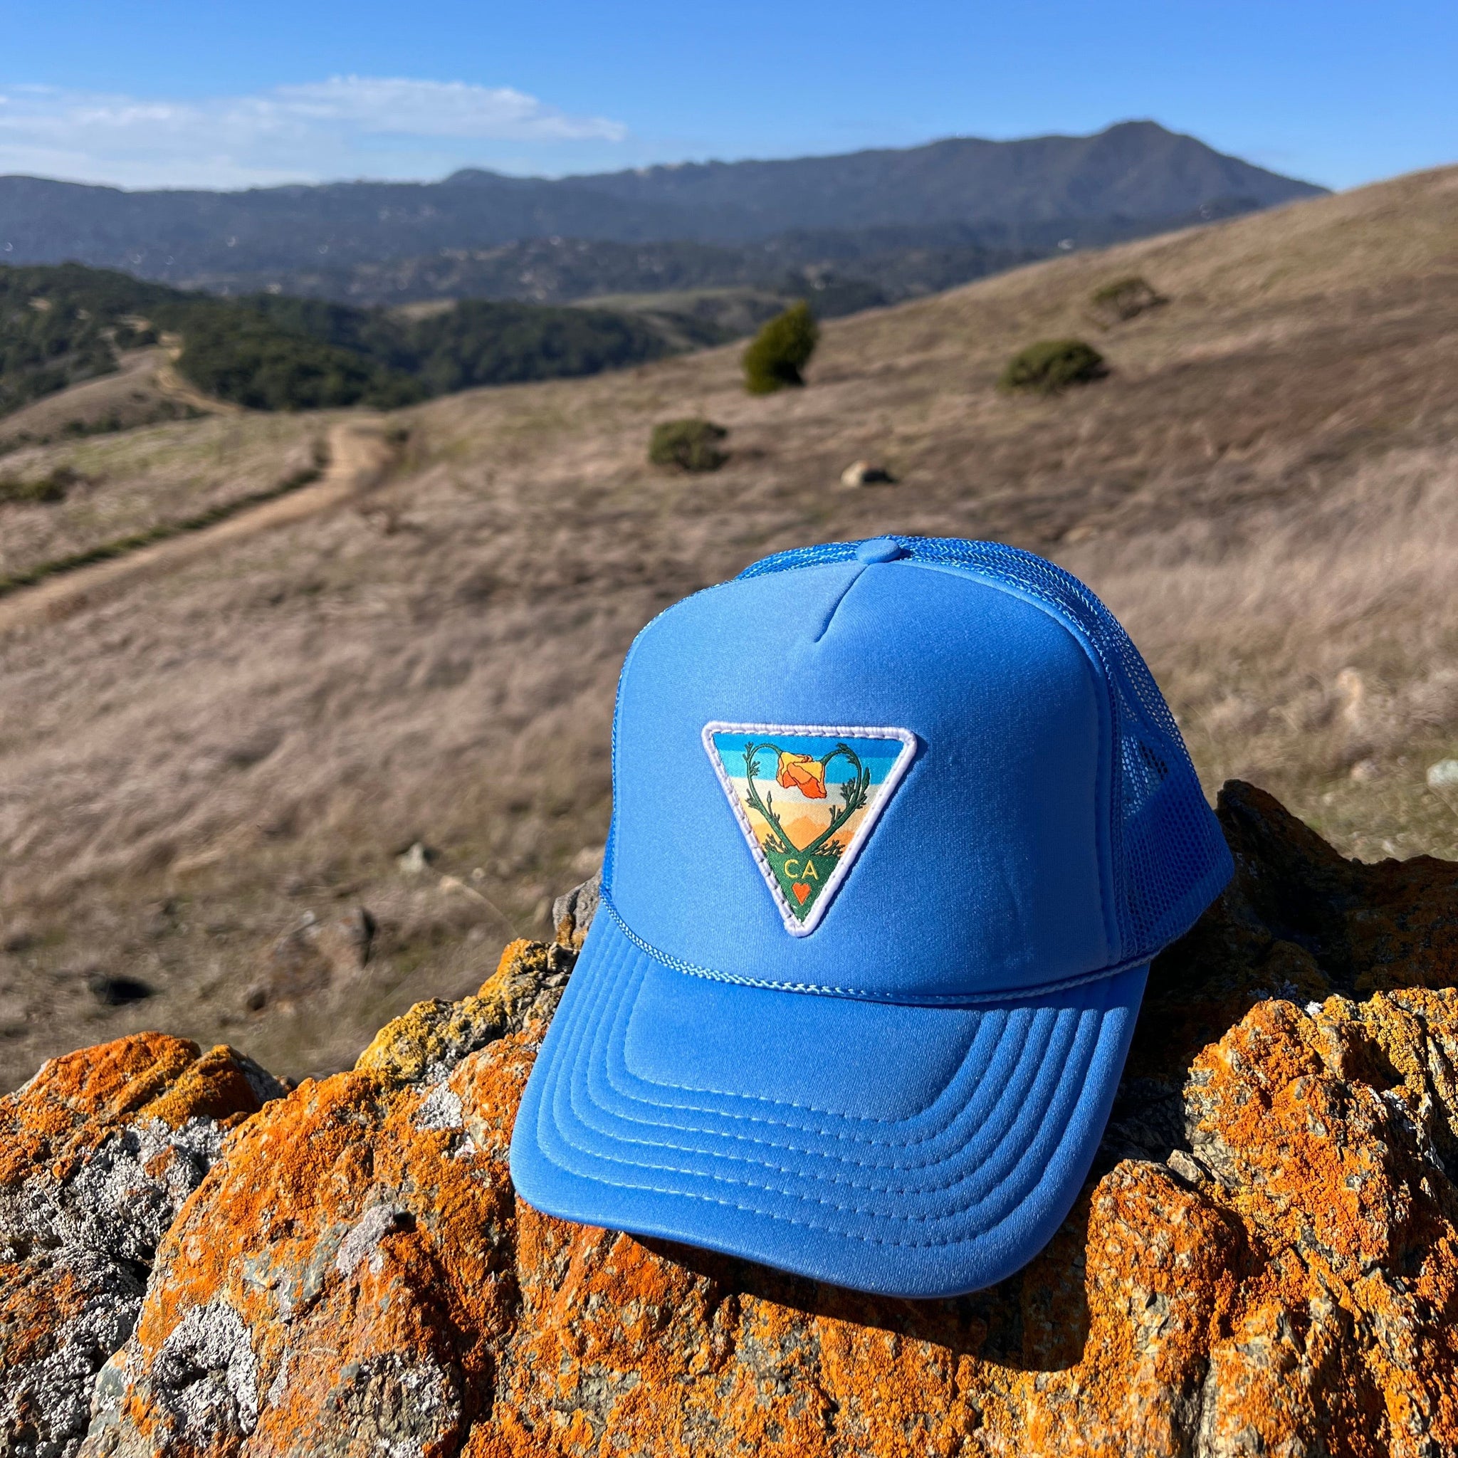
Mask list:
POLYGON ((0 1452, 77 1451, 157 1242, 227 1128, 281 1094, 232 1048, 144 1032, 0 1099, 0 1452))

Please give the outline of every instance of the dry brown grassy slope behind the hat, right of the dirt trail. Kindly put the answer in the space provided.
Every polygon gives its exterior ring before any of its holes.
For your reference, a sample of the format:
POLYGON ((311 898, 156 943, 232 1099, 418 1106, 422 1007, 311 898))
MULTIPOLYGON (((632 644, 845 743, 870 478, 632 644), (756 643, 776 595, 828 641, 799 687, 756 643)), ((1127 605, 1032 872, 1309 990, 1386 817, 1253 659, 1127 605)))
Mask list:
POLYGON ((593 865, 637 628, 816 539, 1053 555, 1209 787, 1254 779, 1352 854, 1458 856, 1424 780, 1458 757, 1455 239, 1449 169, 833 321, 803 391, 751 399, 714 350, 423 402, 357 510, 0 640, 0 1080, 155 1025, 305 1073, 472 987, 593 865), (1128 274, 1168 302, 1099 328, 1128 274), (1069 335, 1105 379, 996 388, 1069 335), (646 464, 684 416, 729 427, 722 469, 646 464), (840 487, 857 458, 898 484, 840 487), (111 974, 155 994, 106 1006, 111 974))

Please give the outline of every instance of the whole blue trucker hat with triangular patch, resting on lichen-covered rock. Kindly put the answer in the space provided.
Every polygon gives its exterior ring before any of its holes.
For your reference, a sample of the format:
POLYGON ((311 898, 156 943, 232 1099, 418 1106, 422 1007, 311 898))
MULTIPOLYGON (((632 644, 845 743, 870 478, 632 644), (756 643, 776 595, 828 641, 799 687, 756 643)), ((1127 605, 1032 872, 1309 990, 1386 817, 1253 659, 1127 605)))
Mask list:
POLYGON ((891 1296, 1031 1260, 1232 870, 1108 609, 991 542, 767 557, 639 634, 612 783, 522 1197, 891 1296))

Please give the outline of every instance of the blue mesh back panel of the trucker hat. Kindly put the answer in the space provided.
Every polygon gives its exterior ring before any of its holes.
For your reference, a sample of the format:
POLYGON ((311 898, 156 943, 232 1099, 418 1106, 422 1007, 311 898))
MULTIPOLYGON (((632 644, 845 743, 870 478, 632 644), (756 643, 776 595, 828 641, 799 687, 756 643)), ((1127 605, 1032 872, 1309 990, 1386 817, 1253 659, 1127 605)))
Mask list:
MULTIPOLYGON (((1114 614, 1032 553, 956 537, 897 537, 913 561, 943 563, 1038 598, 1089 643, 1104 665, 1114 732, 1111 806, 1120 959, 1153 956, 1190 929, 1233 869, 1204 802, 1169 706, 1114 614)), ((741 577, 847 561, 857 542, 776 553, 741 577)))

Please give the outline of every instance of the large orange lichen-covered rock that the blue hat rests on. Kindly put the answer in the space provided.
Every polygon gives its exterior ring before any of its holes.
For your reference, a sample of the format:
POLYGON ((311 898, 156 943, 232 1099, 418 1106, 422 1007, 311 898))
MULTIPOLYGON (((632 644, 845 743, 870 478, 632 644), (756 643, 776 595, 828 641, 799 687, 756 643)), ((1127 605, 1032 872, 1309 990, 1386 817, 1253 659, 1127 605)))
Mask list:
POLYGON ((1314 1099, 1322 1047, 1372 1057, 1360 1022, 1331 1012, 1267 1002, 1207 1050, 1190 1080, 1196 1187, 1121 1161, 1026 1270, 945 1302, 859 1296, 513 1201, 506 1147, 539 1025, 437 1085, 305 1085, 235 1137, 168 1236, 120 1411, 86 1451, 273 1452, 303 1436, 347 1452, 344 1414, 408 1410, 391 1435, 410 1451, 477 1458, 1124 1458, 1197 1438, 1231 1454, 1446 1452, 1452 1190, 1395 1198, 1416 1136, 1387 1130, 1384 1172, 1366 1094, 1346 1124, 1314 1099), (1420 1247, 1382 1244, 1384 1209, 1422 1226, 1420 1247), (1337 1236, 1333 1254, 1321 1242, 1337 1236), (1381 1264, 1400 1254, 1410 1283, 1381 1264), (245 1401, 190 1433, 157 1373, 219 1327, 235 1346, 216 1371, 249 1373, 245 1401))

